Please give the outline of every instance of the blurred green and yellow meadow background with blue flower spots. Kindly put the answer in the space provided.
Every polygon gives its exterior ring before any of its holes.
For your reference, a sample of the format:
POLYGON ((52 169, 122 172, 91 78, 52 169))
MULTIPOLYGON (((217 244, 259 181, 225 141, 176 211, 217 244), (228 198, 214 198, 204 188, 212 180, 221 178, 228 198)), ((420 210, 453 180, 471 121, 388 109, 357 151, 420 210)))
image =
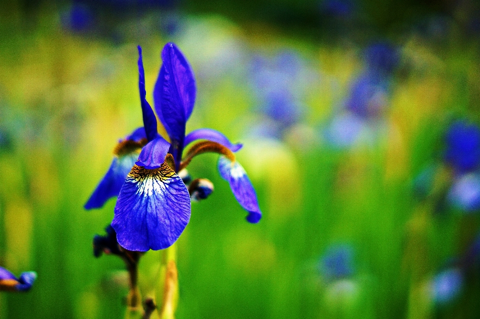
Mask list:
MULTIPOLYGON (((215 155, 177 242, 177 318, 477 318, 480 7, 473 0, 13 1, 0 12, 0 265, 35 270, 0 317, 119 318, 83 204, 141 126, 173 41, 197 81, 187 131, 242 142, 263 218, 215 155)), ((140 262, 148 286, 156 252, 140 262)))

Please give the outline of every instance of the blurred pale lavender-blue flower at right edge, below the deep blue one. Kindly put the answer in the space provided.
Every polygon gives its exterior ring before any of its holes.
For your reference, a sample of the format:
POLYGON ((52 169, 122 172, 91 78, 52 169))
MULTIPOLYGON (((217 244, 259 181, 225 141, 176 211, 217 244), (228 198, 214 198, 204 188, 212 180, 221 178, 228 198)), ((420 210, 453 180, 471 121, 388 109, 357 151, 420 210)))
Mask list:
POLYGON ((470 173, 457 177, 448 192, 448 200, 466 212, 480 209, 480 175, 470 173))

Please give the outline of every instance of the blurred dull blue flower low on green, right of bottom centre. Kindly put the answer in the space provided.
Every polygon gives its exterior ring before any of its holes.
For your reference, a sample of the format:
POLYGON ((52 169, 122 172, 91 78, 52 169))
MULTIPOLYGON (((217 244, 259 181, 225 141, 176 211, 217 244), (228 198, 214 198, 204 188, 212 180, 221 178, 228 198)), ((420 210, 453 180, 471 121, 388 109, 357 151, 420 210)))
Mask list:
POLYGON ((330 246, 320 258, 319 271, 327 280, 353 274, 353 248, 349 245, 330 246))

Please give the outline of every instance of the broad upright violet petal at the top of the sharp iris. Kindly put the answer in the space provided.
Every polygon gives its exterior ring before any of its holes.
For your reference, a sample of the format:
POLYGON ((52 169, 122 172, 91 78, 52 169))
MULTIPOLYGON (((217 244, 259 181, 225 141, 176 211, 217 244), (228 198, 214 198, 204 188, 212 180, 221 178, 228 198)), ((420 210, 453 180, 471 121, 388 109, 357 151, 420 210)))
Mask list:
POLYGON ((185 124, 193 110, 196 87, 193 72, 181 51, 167 43, 163 64, 153 90, 156 113, 170 137, 170 153, 178 168, 185 138, 185 124))

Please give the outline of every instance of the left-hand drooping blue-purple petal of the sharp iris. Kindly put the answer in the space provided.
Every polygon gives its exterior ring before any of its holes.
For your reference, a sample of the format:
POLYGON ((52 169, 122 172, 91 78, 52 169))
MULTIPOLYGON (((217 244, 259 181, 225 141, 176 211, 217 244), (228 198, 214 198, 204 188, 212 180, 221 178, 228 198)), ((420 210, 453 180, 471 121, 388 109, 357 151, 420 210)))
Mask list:
POLYGON ((86 202, 85 209, 101 208, 109 198, 117 196, 137 157, 138 153, 115 156, 105 176, 86 202))

